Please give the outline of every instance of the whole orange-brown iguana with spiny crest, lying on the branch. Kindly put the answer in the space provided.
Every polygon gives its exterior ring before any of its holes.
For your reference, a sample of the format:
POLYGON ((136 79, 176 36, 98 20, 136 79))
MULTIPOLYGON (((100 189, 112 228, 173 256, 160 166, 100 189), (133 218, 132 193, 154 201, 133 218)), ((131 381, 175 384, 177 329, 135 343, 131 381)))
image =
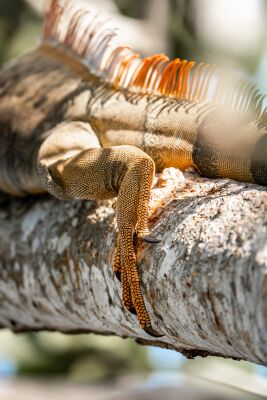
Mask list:
POLYGON ((59 199, 117 196, 122 302, 157 336, 134 236, 148 228, 155 171, 267 185, 264 96, 214 66, 141 57, 79 1, 50 0, 40 46, 0 71, 0 190, 59 199), (229 84, 230 82, 230 84, 229 84))

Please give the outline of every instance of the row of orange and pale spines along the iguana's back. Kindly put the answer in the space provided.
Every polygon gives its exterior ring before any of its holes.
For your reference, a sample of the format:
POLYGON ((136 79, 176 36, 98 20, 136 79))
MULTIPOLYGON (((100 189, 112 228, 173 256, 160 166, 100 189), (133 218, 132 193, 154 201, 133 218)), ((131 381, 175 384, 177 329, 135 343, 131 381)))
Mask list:
POLYGON ((170 61, 164 54, 143 58, 119 41, 110 23, 79 0, 48 1, 44 42, 72 52, 91 73, 115 89, 218 103, 237 112, 252 109, 259 118, 263 113, 265 96, 254 85, 231 81, 226 87, 215 66, 208 64, 179 58, 170 61))

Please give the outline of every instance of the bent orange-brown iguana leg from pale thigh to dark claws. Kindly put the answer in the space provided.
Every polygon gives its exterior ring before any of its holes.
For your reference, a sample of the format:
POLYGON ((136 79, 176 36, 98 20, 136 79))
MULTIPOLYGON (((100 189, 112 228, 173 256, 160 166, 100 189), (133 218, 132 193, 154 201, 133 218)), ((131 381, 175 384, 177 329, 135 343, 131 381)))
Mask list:
POLYGON ((38 171, 45 189, 60 199, 109 199, 118 196, 119 230, 114 269, 121 271, 123 303, 135 309, 140 326, 151 327, 140 289, 133 236, 148 241, 148 202, 154 162, 133 146, 101 148, 89 124, 72 122, 54 128, 39 151, 38 171))

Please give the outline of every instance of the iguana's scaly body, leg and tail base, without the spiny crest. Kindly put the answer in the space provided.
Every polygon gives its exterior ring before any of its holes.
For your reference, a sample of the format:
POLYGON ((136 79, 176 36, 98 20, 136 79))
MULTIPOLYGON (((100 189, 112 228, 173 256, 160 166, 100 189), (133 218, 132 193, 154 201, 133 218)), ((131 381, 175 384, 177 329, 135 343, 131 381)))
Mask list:
MULTIPOLYGON (((147 213, 155 170, 195 166, 208 177, 254 182, 251 160, 265 138, 263 124, 211 103, 115 90, 49 46, 0 71, 0 189, 48 191, 63 200, 118 196, 114 271, 123 304, 151 335, 157 333, 140 290, 133 237, 156 242, 147 213), (231 152, 233 133, 238 146, 231 152)), ((266 162, 258 181, 266 184, 264 168, 266 162)))

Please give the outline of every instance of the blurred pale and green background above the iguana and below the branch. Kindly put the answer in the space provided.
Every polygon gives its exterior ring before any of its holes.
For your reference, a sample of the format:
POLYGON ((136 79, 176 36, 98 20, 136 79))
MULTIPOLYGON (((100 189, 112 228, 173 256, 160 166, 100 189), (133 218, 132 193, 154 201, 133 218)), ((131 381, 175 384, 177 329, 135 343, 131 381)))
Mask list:
MULTIPOLYGON (((165 52, 237 69, 267 92, 266 0, 82 0, 112 16, 144 55, 165 52)), ((0 65, 41 39, 44 0, 0 0, 0 65)), ((267 368, 186 360, 134 341, 0 331, 0 400, 267 398, 267 368)))

